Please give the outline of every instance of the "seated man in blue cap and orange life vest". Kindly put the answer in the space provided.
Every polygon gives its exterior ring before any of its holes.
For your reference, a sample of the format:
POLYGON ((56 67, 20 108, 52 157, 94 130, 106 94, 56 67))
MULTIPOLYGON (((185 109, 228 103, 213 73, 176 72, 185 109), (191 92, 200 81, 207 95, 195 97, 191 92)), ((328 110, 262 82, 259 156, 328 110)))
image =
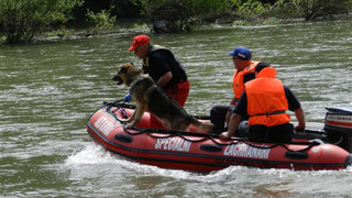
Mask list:
MULTIPOLYGON (((233 98, 230 105, 213 106, 210 110, 210 121, 215 124, 213 133, 220 133, 226 130, 224 125, 229 122, 231 108, 238 103, 241 94, 244 90, 244 84, 255 78, 254 68, 260 62, 252 62, 252 53, 244 46, 238 46, 229 52, 235 67, 232 77, 233 98)), ((246 118, 243 118, 246 120, 246 118)))

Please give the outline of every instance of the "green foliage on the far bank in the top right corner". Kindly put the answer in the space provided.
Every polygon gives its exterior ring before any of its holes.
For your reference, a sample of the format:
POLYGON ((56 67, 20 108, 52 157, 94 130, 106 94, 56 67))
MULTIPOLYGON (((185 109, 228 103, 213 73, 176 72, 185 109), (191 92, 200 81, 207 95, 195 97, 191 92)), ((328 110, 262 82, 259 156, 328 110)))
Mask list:
POLYGON ((274 10, 286 18, 304 18, 308 21, 348 14, 352 10, 352 0, 278 0, 274 10))

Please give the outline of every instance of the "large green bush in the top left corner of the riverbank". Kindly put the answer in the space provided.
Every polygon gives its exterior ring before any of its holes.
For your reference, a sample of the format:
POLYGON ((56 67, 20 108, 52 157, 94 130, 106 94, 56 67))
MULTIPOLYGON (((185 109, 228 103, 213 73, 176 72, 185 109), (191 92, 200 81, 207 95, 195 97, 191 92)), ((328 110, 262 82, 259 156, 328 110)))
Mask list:
POLYGON ((70 11, 84 0, 0 0, 0 36, 6 43, 33 40, 53 24, 72 19, 70 11))

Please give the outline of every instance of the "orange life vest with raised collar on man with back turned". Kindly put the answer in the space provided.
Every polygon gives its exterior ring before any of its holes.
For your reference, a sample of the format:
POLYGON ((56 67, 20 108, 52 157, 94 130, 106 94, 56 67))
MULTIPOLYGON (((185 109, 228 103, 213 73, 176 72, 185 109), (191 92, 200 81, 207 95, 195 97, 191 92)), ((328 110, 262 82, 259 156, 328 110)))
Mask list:
POLYGON ((290 121, 290 117, 285 113, 288 102, 284 86, 275 77, 276 69, 266 67, 258 73, 256 79, 245 84, 249 125, 272 127, 290 121))

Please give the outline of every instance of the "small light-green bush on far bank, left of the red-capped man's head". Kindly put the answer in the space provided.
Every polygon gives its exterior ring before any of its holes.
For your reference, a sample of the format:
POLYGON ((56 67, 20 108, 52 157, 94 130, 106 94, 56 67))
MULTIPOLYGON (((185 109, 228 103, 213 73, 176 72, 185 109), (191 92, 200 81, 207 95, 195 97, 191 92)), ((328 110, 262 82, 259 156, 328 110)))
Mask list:
POLYGON ((92 11, 87 10, 87 21, 94 23, 97 30, 111 29, 117 21, 117 16, 110 15, 110 11, 114 7, 111 7, 110 10, 101 10, 99 13, 94 13, 92 11))

